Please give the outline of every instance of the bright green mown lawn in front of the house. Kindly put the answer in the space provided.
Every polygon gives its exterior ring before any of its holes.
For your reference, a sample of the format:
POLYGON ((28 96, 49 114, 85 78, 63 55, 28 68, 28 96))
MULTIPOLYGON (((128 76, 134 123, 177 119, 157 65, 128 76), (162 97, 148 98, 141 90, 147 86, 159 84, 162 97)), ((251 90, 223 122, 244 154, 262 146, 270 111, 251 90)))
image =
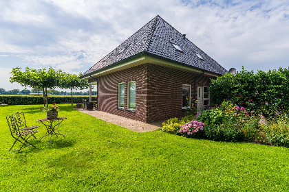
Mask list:
POLYGON ((288 148, 132 132, 59 106, 66 139, 32 140, 37 149, 19 154, 8 152, 6 116, 23 111, 37 125, 43 106, 0 108, 0 191, 289 191, 288 148))

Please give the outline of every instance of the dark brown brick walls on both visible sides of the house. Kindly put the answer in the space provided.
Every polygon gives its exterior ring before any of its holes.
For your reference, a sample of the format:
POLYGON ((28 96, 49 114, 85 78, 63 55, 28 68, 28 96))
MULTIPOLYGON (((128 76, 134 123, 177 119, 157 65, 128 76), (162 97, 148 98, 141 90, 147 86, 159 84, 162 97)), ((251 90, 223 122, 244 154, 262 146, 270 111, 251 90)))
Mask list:
MULTIPOLYGON (((191 84, 200 73, 180 71, 155 64, 142 64, 98 77, 98 110, 143 122, 182 117, 182 84, 191 84), (127 82, 136 81, 136 111, 127 111, 127 82), (118 83, 125 82, 125 110, 119 110, 118 83)), ((197 86, 209 86, 210 77, 197 78, 197 86)), ((195 97, 196 98, 196 95, 195 97)))

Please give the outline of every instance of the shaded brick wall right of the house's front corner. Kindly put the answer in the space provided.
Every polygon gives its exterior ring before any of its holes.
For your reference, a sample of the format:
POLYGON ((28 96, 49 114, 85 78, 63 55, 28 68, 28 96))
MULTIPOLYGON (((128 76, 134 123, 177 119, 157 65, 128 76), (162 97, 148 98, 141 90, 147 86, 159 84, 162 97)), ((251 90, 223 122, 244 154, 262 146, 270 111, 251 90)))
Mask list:
MULTIPOLYGON (((148 64, 149 93, 147 97, 147 121, 160 121, 171 117, 182 117, 182 84, 191 84, 193 97, 195 77, 200 73, 191 73, 148 64)), ((202 75, 196 81, 197 86, 209 86, 210 77, 202 75)))

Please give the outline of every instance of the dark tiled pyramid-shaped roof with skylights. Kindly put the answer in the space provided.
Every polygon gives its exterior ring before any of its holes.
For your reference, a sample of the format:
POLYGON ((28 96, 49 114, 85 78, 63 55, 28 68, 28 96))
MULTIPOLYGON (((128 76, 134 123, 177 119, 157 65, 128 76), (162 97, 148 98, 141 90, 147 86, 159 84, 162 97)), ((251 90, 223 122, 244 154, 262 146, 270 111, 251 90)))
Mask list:
POLYGON ((217 75, 228 73, 220 64, 185 38, 185 35, 160 16, 156 16, 83 73, 81 78, 143 54, 217 75))

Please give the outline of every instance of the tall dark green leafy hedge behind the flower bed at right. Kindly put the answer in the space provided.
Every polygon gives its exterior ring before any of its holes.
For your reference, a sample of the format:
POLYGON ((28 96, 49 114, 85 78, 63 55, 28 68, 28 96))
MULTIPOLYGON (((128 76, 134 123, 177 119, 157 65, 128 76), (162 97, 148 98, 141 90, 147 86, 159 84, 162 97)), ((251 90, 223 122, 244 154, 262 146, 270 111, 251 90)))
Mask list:
POLYGON ((242 71, 211 80, 211 104, 230 100, 237 106, 267 117, 288 110, 289 68, 268 71, 242 71))

